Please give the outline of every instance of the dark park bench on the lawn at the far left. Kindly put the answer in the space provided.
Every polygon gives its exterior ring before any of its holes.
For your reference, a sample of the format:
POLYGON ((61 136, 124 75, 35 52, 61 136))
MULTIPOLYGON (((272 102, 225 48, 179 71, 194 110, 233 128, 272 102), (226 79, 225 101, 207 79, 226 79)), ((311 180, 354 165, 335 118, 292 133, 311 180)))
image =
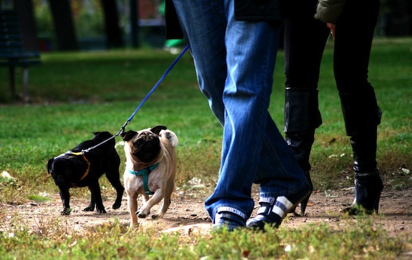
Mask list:
POLYGON ((41 63, 38 50, 27 50, 19 17, 14 10, 0 10, 0 66, 9 68, 10 94, 16 98, 15 68, 23 68, 23 99, 28 100, 29 66, 41 63))

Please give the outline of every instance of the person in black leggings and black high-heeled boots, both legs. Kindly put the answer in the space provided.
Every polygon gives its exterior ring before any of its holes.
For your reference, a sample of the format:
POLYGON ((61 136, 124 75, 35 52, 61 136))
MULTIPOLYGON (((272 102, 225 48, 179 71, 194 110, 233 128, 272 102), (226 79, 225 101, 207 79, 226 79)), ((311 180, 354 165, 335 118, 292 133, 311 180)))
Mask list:
MULTIPOLYGON (((307 4, 310 8, 306 10, 311 10, 312 15, 317 1, 307 4)), ((376 163, 381 111, 374 88, 367 79, 379 8, 379 0, 320 0, 314 16, 320 21, 309 17, 307 12, 293 16, 286 21, 285 27, 284 131, 288 146, 309 180, 314 131, 322 122, 317 95, 319 66, 328 31, 332 33, 336 87, 354 153, 354 202, 344 209, 350 215, 378 213, 383 188, 376 163), (308 55, 310 57, 306 58, 308 55)), ((302 215, 308 199, 309 196, 301 202, 302 215)))

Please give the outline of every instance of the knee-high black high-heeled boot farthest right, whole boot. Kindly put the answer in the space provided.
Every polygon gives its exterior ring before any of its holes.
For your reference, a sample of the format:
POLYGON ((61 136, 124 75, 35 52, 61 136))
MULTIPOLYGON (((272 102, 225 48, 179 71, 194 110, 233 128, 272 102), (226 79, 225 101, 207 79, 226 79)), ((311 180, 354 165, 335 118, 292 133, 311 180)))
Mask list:
POLYGON ((350 215, 378 213, 383 184, 376 164, 377 127, 382 111, 373 87, 340 93, 347 136, 354 152, 354 202, 343 211, 350 215))

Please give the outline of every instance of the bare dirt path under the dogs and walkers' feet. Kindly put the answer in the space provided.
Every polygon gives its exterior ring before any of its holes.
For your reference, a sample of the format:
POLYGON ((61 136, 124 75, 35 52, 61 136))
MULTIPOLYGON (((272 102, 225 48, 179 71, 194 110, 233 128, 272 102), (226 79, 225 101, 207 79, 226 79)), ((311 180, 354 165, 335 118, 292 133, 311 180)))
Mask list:
MULTIPOLYGON (((297 228, 308 223, 337 223, 342 215, 340 210, 352 202, 352 196, 353 191, 350 190, 315 192, 310 197, 306 215, 297 217, 290 214, 282 225, 297 228)), ((203 206, 206 197, 205 191, 194 190, 185 193, 176 191, 172 205, 163 219, 151 219, 150 217, 139 219, 139 225, 141 228, 159 226, 166 232, 177 230, 182 235, 188 235, 190 232, 209 232, 211 222, 203 206)), ((255 199, 257 200, 258 196, 255 196, 255 199)), ((15 206, 3 204, 0 205, 0 230, 7 232, 10 225, 19 219, 27 222, 34 232, 42 226, 47 226, 47 223, 52 223, 56 218, 65 218, 67 229, 78 232, 86 230, 87 227, 115 221, 115 219, 119 219, 121 224, 128 226, 130 220, 126 196, 124 196, 121 208, 117 210, 111 209, 113 202, 114 197, 106 199, 104 206, 107 214, 98 215, 82 211, 82 208, 87 206, 88 199, 72 197, 73 211, 68 217, 60 216, 62 206, 58 194, 53 195, 49 202, 27 202, 15 206)), ((152 209, 152 212, 156 209, 152 209)), ((385 189, 380 199, 380 215, 375 218, 376 225, 381 226, 391 235, 404 234, 412 237, 412 191, 385 189)))

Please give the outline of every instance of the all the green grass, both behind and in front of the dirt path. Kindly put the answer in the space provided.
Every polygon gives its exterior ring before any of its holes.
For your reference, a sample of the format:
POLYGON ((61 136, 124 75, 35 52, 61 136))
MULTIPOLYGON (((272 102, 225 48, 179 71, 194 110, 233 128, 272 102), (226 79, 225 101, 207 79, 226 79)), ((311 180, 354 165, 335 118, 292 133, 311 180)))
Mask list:
MULTIPOLYGON (((320 190, 353 185, 352 150, 334 85, 332 56, 329 44, 319 81, 323 125, 317 130, 311 157, 314 187, 320 190)), ((43 54, 43 63, 30 68, 32 105, 12 102, 7 69, 1 69, 0 171, 7 171, 16 180, 0 182, 0 204, 19 204, 39 193, 56 193, 45 169, 47 160, 90 138, 93 131, 117 133, 174 58, 161 50, 43 54)), ((283 58, 279 52, 270 107, 281 132, 283 58)), ((383 111, 378 164, 385 185, 394 189, 412 188, 411 173, 402 171, 412 168, 411 61, 412 39, 379 39, 374 43, 369 80, 383 111)), ((21 70, 17 69, 17 74, 21 78, 21 70)), ((166 125, 179 136, 176 186, 201 177, 213 187, 222 129, 198 91, 190 54, 183 56, 126 129, 157 124, 166 125)), ((124 162, 122 147, 118 152, 124 162)), ((76 189, 76 193, 87 193, 87 189, 76 189)), ((0 258, 395 259, 407 250, 407 241, 377 232, 365 221, 368 219, 358 219, 358 226, 343 221, 340 230, 308 225, 293 232, 281 227, 265 234, 223 232, 180 237, 161 235, 156 230, 130 233, 118 223, 80 235, 67 232, 53 219, 44 224, 43 233, 32 233, 22 219, 8 227, 8 232, 0 232, 0 258), (292 249, 286 252, 288 245, 292 249)))

